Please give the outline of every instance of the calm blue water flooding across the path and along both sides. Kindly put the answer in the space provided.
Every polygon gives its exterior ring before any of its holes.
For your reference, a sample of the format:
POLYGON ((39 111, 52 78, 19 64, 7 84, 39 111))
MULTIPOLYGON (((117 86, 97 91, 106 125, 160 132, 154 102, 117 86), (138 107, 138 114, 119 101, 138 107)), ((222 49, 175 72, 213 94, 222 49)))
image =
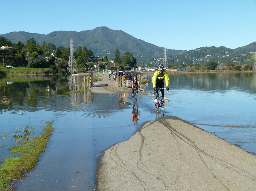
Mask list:
MULTIPOLYGON (((151 78, 147 74, 146 78, 151 78)), ((256 153, 255 73, 171 74, 166 116, 182 118, 248 152, 256 153)), ((143 87, 153 92, 152 83, 143 87)), ((54 133, 33 171, 17 190, 92 190, 96 159, 111 145, 129 139, 140 125, 162 117, 153 99, 131 94, 69 91, 66 76, 0 77, 0 160, 25 124, 40 132, 54 120, 54 133), (136 106, 139 120, 132 120, 136 106), (42 176, 35 176, 42 174, 42 176)))

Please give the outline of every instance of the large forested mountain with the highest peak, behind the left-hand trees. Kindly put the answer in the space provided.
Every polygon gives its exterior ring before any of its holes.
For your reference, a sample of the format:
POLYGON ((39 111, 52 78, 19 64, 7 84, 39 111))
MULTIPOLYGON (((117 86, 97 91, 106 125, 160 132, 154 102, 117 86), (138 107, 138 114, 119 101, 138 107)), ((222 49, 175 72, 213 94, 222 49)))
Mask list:
MULTIPOLYGON (((65 48, 70 46, 70 38, 73 38, 75 49, 79 46, 90 47, 95 55, 101 58, 105 55, 110 59, 114 58, 116 47, 121 55, 125 52, 131 52, 140 62, 154 57, 162 57, 163 55, 163 47, 136 39, 124 31, 111 30, 105 26, 81 32, 55 31, 42 35, 19 31, 0 36, 7 37, 13 43, 21 41, 23 44, 33 37, 39 45, 42 45, 43 41, 45 41, 46 44, 53 43, 56 47, 63 46, 65 48)), ((183 52, 181 50, 168 49, 168 55, 170 56, 177 56, 183 52)))

